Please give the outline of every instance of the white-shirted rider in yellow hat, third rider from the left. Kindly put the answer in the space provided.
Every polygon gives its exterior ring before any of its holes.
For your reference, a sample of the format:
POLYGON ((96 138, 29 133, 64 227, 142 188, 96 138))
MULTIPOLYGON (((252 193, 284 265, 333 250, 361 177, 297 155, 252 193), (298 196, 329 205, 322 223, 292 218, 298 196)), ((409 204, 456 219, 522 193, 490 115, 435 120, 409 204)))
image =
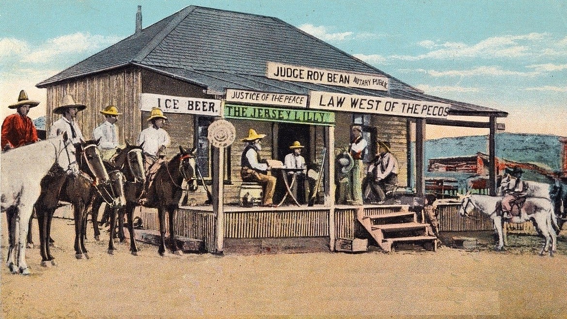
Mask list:
POLYGON ((105 161, 108 161, 116 154, 118 143, 118 127, 115 125, 117 116, 122 115, 118 112, 118 108, 109 105, 100 111, 106 120, 92 131, 92 136, 95 140, 100 138, 99 149, 105 161))

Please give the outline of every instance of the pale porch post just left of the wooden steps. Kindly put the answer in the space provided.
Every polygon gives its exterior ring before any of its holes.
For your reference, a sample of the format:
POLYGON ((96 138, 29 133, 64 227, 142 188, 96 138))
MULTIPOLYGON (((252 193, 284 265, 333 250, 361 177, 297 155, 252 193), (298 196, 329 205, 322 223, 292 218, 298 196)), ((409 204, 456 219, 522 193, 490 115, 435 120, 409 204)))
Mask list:
POLYGON ((325 127, 325 135, 325 206, 329 208, 329 250, 335 251, 335 127, 325 127))

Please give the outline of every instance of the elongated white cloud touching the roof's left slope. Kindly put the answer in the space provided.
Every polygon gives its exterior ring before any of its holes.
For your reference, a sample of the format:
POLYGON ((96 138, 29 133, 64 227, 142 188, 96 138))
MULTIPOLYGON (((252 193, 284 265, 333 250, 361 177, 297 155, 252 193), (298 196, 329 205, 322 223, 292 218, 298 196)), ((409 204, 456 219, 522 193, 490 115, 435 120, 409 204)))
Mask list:
POLYGON ((49 39, 22 58, 23 62, 44 63, 66 54, 94 52, 119 41, 115 36, 73 33, 49 39))

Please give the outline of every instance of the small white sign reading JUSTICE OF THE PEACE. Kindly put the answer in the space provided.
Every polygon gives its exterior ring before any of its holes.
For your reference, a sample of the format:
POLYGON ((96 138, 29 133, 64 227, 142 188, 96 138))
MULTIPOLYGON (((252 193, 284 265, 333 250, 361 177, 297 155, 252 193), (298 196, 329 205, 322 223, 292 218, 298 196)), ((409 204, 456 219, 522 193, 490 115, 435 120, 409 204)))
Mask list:
POLYGON ((307 95, 284 93, 266 93, 246 90, 226 90, 226 100, 249 104, 269 104, 282 106, 307 107, 307 95))

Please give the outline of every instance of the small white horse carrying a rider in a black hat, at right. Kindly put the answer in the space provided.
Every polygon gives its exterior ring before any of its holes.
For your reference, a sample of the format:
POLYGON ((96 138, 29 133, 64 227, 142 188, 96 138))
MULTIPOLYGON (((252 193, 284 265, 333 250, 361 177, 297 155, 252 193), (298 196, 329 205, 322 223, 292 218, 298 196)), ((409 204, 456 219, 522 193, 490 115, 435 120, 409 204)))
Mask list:
MULTIPOLYGON (((503 236, 503 219, 502 216, 497 212, 497 207, 500 205, 502 197, 498 196, 488 196, 488 195, 467 195, 463 197, 463 203, 459 208, 459 213, 461 216, 471 216, 473 209, 483 212, 492 219, 494 223, 494 228, 498 233, 498 245, 496 249, 503 250, 505 238, 503 236)), ((527 198, 526 203, 522 209, 525 211, 524 219, 520 216, 513 216, 509 222, 510 223, 524 223, 525 221, 531 220, 534 223, 536 230, 543 237, 545 237, 545 244, 541 249, 540 255, 544 252, 549 251, 549 255, 553 256, 553 252, 557 250, 557 233, 556 230, 559 229, 557 225, 557 219, 555 214, 553 214, 553 207, 551 201, 546 198, 527 198), (549 249, 551 246, 551 250, 549 249)))

